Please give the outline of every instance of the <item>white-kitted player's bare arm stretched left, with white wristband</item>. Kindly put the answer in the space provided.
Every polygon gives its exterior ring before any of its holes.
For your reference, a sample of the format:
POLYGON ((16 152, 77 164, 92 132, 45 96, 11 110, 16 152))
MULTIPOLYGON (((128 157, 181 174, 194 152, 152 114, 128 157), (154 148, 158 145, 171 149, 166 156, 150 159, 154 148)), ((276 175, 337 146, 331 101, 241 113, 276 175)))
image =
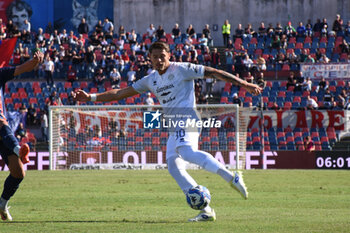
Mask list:
POLYGON ((118 101, 137 94, 139 93, 133 87, 127 87, 124 89, 113 89, 110 91, 95 94, 96 99, 92 99, 91 97, 94 98, 92 94, 86 93, 83 90, 77 90, 73 94, 73 98, 76 101, 81 101, 81 102, 86 102, 86 101, 109 102, 109 101, 118 101))

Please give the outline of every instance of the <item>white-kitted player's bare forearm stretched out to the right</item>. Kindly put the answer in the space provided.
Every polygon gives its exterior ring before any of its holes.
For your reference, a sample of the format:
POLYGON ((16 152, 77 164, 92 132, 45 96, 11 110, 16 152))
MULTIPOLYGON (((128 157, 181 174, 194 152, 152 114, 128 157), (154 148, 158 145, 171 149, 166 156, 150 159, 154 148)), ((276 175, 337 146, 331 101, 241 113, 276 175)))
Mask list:
POLYGON ((261 87, 259 87, 256 84, 248 83, 247 81, 242 80, 234 76, 233 74, 230 74, 226 71, 218 70, 209 66, 205 66, 204 77, 219 79, 225 82, 233 83, 234 85, 245 88, 248 92, 254 95, 259 95, 263 90, 261 87))

